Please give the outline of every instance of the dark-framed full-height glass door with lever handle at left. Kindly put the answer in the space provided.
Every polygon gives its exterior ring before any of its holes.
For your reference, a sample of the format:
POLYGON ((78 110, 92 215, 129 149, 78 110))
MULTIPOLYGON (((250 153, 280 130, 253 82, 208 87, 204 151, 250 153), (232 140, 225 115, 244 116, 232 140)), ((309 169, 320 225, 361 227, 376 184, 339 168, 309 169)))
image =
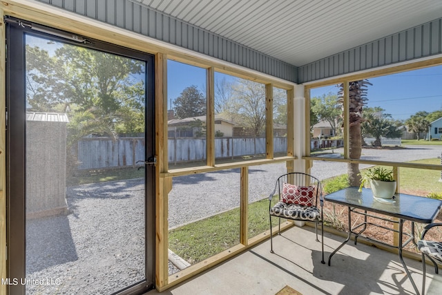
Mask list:
POLYGON ((153 57, 7 31, 10 294, 153 287, 153 57))

